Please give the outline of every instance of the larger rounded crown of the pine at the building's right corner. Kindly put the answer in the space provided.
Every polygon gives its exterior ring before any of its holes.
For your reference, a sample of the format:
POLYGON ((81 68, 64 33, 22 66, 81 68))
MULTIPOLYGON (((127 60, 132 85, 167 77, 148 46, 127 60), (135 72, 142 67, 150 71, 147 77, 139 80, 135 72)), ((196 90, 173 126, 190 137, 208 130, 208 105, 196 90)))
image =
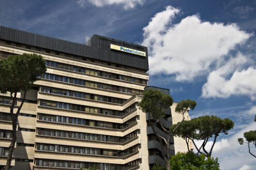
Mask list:
POLYGON ((145 113, 150 113, 155 120, 159 120, 164 116, 165 109, 173 104, 173 98, 165 95, 159 90, 146 90, 143 92, 143 98, 139 106, 145 113))

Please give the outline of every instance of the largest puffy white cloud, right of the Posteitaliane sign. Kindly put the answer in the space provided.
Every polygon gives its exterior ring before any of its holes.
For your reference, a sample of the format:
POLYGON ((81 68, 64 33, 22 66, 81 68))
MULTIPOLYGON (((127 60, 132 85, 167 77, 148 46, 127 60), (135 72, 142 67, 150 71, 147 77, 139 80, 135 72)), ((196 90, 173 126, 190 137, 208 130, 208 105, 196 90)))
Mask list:
POLYGON ((180 9, 167 6, 143 28, 150 74, 172 74, 176 81, 192 81, 251 36, 236 24, 204 22, 198 15, 173 24, 177 14, 180 9))

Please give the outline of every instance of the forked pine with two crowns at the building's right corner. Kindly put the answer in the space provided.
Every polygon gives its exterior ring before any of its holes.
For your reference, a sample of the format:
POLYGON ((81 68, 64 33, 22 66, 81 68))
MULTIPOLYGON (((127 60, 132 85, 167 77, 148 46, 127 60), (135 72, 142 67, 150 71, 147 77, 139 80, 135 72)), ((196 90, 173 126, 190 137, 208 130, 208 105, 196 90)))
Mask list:
MULTIPOLYGON (((167 169, 170 169, 170 142, 173 135, 173 132, 178 128, 178 126, 169 131, 169 129, 165 128, 162 125, 161 119, 164 117, 165 109, 169 108, 173 104, 173 98, 170 95, 165 95, 161 93, 159 90, 146 90, 143 93, 143 98, 139 103, 139 106, 145 113, 148 113, 148 123, 149 126, 152 128, 154 134, 158 138, 159 143, 161 144, 161 152, 163 159, 166 163, 167 169), (152 121, 152 119, 154 121, 152 121), (164 134, 167 136, 164 137, 163 135, 159 134, 156 130, 156 127, 161 128, 164 134)), ((193 100, 182 100, 176 106, 175 111, 183 115, 183 120, 185 119, 185 112, 190 108, 191 110, 194 109, 195 101, 193 100)), ((182 124, 182 122, 180 124, 182 124)))

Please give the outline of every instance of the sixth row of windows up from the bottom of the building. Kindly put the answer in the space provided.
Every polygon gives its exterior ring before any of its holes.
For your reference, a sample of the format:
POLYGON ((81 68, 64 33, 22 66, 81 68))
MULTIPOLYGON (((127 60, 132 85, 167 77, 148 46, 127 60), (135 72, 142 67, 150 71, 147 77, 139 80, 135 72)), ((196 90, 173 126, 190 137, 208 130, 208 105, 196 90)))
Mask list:
POLYGON ((123 98, 102 96, 97 94, 83 93, 83 92, 64 90, 64 89, 56 89, 56 88, 50 88, 50 87, 41 87, 41 92, 86 98, 86 99, 92 99, 92 100, 98 100, 98 101, 106 101, 106 102, 117 103, 117 104, 123 104, 126 101, 126 99, 123 99, 123 98))

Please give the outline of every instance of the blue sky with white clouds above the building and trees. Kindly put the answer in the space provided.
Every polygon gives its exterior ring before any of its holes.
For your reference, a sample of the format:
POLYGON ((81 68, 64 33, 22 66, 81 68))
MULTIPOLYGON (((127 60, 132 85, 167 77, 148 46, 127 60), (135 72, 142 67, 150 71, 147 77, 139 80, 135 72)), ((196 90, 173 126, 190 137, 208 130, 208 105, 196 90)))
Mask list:
POLYGON ((0 25, 83 44, 97 34, 147 46, 150 86, 197 101, 191 118, 234 121, 213 151, 220 168, 256 167, 237 142, 256 129, 255 0, 0 0, 0 25))

